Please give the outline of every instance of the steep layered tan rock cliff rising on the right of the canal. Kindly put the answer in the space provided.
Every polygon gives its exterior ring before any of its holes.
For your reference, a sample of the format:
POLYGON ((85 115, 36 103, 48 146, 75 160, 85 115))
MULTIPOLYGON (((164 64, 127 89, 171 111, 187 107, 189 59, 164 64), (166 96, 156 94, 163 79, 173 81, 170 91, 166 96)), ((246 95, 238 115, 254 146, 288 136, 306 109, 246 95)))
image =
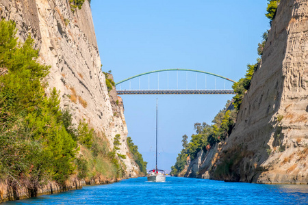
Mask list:
POLYGON ((308 184, 307 33, 308 1, 281 0, 231 135, 186 176, 308 184))

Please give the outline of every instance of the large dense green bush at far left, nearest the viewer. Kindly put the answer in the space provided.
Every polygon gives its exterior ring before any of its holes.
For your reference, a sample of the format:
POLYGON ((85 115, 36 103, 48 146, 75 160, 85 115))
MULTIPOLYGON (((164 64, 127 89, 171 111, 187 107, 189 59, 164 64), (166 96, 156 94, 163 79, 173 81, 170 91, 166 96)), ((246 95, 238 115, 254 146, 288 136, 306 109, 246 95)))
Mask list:
POLYGON ((44 94, 49 66, 36 61, 29 37, 22 44, 12 21, 0 22, 0 176, 16 187, 36 187, 46 180, 64 183, 73 174, 76 142, 61 120, 59 94, 44 94))

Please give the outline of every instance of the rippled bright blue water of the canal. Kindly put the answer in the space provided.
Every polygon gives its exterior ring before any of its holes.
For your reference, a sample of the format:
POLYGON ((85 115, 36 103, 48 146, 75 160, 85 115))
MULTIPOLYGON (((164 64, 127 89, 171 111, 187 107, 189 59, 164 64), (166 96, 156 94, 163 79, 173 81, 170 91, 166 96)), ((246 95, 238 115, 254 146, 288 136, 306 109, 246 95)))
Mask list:
POLYGON ((146 177, 4 204, 308 204, 308 185, 268 185, 146 177))

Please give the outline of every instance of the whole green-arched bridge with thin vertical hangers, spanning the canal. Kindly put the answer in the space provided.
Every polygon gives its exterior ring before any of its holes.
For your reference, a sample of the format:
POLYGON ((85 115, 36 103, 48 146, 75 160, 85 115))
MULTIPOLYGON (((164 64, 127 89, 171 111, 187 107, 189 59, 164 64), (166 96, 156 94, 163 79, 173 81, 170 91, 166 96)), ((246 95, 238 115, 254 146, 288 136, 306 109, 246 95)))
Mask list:
POLYGON ((175 69, 154 70, 151 72, 144 72, 142 74, 137 74, 133 77, 124 79, 123 81, 119 81, 118 83, 115 84, 118 90, 118 94, 234 94, 230 86, 234 82, 235 81, 231 79, 210 72, 175 68, 175 69), (169 71, 172 71, 172 73, 170 74, 171 77, 169 77, 169 71), (186 76, 185 77, 183 76, 183 72, 180 72, 179 75, 179 71, 185 71, 186 76), (160 72, 164 72, 164 74, 159 76, 160 72), (194 75, 192 75, 193 72, 196 75, 195 78, 194 75), (203 77, 198 78, 197 74, 200 75, 200 73, 203 74, 203 77), (143 77, 145 75, 148 75, 148 77, 143 77), (150 75, 151 75, 151 83, 150 83, 150 75), (209 79, 207 79, 208 75, 209 79), (142 78, 143 84, 140 83, 140 77, 142 78), (216 83, 216 78, 218 79, 217 83, 216 83), (226 82, 228 84, 227 87, 229 87, 229 89, 228 88, 226 89, 226 82), (209 84, 208 87, 207 84, 209 84), (217 86, 218 89, 216 89, 216 84, 218 84, 217 86), (123 87, 126 88, 123 89, 123 87), (131 87, 133 88, 138 87, 138 89, 131 89, 131 87), (153 87, 156 88, 153 89, 153 87), (186 89, 183 89, 183 87, 185 87, 186 89), (194 87, 195 89, 191 89, 192 87, 194 87), (200 89, 201 87, 204 87, 205 89, 200 89), (222 87, 224 88, 222 89, 222 87))

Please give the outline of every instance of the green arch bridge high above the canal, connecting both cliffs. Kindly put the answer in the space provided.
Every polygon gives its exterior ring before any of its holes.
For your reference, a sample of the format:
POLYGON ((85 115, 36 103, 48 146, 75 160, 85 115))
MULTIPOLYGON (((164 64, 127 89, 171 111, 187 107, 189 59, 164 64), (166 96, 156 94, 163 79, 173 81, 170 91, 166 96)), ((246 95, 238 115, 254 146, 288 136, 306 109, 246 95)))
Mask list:
MULTIPOLYGON (((156 77, 155 77, 156 78, 156 77)), ((199 79, 200 82, 200 79, 199 79)), ((133 77, 129 77, 127 79, 124 79, 122 81, 118 81, 117 83, 115 83, 115 85, 117 86, 117 93, 119 95, 123 95, 123 94, 235 94, 235 92, 232 89, 226 89, 226 82, 230 84, 231 83, 235 83, 236 81, 233 81, 227 77, 222 77, 218 74, 214 74, 211 72, 205 72, 202 70, 190 70, 190 69, 182 69, 182 68, 171 68, 171 69, 164 69, 164 70, 154 70, 151 72, 144 72, 141 74, 137 74, 133 77), (176 80, 175 77, 171 78, 171 83, 169 83, 169 72, 177 72, 177 76, 176 76, 176 80), (186 71, 186 80, 183 79, 183 77, 180 79, 180 86, 179 86, 179 71, 183 72, 186 71), (159 88, 159 73, 160 72, 167 72, 167 77, 165 76, 164 78, 161 77, 161 87, 159 88), (195 80, 190 80, 188 81, 188 72, 194 72, 196 73, 196 79, 195 80), (157 73, 157 80, 155 79, 155 85, 151 85, 150 86, 150 74, 153 73, 157 73), (200 84, 198 85, 198 78, 197 78, 197 74, 203 74, 205 75, 205 81, 203 81, 205 88, 200 89, 200 84), (142 85, 143 87, 140 88, 140 77, 148 75, 149 76, 149 80, 148 80, 148 87, 146 87, 144 89, 144 85, 142 85), (207 76, 210 77, 214 77, 214 81, 213 79, 211 80, 207 80, 207 76), (139 83, 138 83, 138 89, 131 89, 131 80, 133 79, 139 79, 139 83), (222 88, 222 84, 221 81, 218 82, 218 87, 220 87, 219 89, 216 89, 216 78, 224 81, 224 88, 222 88), (163 82, 162 82, 163 79, 163 82), (183 81, 186 81, 186 88, 183 89, 183 81), (129 89, 127 87, 127 89, 122 89, 122 85, 125 82, 129 82, 129 89), (157 82, 157 83, 156 83, 157 82), (176 86, 174 85, 176 82, 176 86), (189 82, 189 83, 188 83, 189 82), (210 82, 211 84, 214 84, 212 86, 210 86, 211 88, 208 89, 207 87, 207 83, 210 82), (195 87, 192 89, 192 84, 195 83, 195 87), (162 86, 162 84, 164 86, 162 86), (172 85, 173 84, 173 85, 172 85), (169 89, 169 86, 171 85, 171 89, 169 89), (190 85, 190 89, 188 89, 188 85, 190 85), (173 87, 172 87, 173 86, 173 87), (118 87, 120 87, 120 89, 118 89, 118 87), (153 89, 153 87, 155 87, 155 89, 153 89), (179 88, 180 87, 180 88, 179 88)), ((136 82, 135 82, 136 84, 136 82)), ((153 84, 153 81, 152 81, 153 84)))

